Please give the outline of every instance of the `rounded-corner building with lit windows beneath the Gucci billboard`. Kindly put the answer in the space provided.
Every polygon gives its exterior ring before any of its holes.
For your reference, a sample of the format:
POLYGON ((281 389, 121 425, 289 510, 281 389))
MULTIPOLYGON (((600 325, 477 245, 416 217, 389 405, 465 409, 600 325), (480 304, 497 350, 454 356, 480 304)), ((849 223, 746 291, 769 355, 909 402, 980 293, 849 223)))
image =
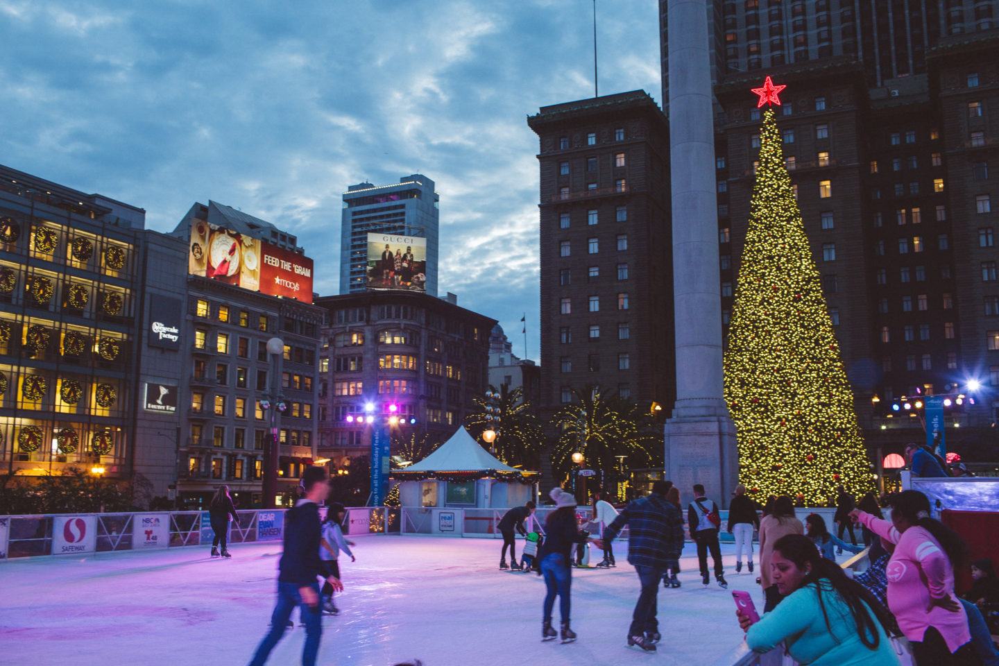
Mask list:
POLYGON ((323 297, 319 454, 342 466, 367 456, 370 428, 356 415, 407 422, 394 439, 441 443, 462 426, 489 381, 497 322, 426 294, 377 291, 323 297), (392 409, 395 405, 395 410, 392 409))

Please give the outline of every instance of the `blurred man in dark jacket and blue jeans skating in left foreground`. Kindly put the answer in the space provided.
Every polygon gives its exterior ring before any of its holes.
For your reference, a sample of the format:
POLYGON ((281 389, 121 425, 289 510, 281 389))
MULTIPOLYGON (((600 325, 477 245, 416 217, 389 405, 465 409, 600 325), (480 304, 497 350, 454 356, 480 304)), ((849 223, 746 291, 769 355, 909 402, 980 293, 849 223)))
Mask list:
MULTIPOLYGON (((330 486, 326 470, 309 467, 302 475, 305 494, 295 507, 285 514, 285 550, 278 564, 278 605, 271 615, 271 631, 261 641, 250 666, 264 666, 271 650, 285 634, 288 620, 296 606, 302 606, 302 621, 306 625, 306 644, 302 650, 302 665, 315 666, 319 641, 323 636, 322 612, 319 606, 320 539, 319 502, 326 499, 330 486)), ((326 579, 336 591, 344 586, 336 576, 326 579)))

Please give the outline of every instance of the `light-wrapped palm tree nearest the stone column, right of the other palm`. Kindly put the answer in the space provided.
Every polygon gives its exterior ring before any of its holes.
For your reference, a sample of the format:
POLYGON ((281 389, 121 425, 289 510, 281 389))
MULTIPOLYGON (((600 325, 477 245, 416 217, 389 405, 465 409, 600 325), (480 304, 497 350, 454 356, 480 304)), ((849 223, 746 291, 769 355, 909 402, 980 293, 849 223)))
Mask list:
POLYGON ((614 469, 618 455, 632 464, 653 459, 654 421, 643 410, 616 395, 607 396, 596 385, 572 390, 573 400, 554 415, 558 430, 554 459, 567 466, 572 453, 582 453, 587 466, 614 469))

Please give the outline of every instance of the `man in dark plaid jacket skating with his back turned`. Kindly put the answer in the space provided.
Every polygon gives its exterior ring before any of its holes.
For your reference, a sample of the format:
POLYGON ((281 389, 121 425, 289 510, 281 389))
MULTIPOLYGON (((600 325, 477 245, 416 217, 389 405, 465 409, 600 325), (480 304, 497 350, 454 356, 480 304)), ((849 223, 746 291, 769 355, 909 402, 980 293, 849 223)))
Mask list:
POLYGON ((634 566, 641 584, 638 602, 631 615, 627 644, 648 652, 655 651, 661 637, 656 619, 656 596, 659 581, 666 569, 675 569, 683 550, 683 516, 678 507, 666 500, 672 484, 658 480, 652 493, 624 507, 612 523, 603 529, 601 542, 609 543, 627 525, 627 561, 634 566))

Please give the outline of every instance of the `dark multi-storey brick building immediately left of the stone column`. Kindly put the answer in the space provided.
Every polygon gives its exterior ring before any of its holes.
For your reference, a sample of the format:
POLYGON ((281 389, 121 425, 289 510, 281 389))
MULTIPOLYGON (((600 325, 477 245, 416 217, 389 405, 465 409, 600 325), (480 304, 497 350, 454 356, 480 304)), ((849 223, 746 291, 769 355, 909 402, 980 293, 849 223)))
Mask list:
POLYGON ((540 402, 573 391, 671 404, 668 126, 643 91, 542 107, 540 402))

